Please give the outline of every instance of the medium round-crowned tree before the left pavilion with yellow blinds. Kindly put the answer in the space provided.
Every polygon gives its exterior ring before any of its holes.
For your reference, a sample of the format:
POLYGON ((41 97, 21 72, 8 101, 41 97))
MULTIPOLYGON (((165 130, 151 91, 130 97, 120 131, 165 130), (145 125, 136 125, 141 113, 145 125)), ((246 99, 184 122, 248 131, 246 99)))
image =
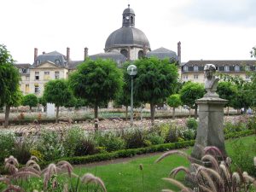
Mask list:
POLYGON ((44 85, 45 100, 49 103, 55 103, 56 106, 56 123, 59 117, 59 108, 64 106, 72 99, 72 92, 68 88, 67 81, 64 79, 50 80, 44 85))

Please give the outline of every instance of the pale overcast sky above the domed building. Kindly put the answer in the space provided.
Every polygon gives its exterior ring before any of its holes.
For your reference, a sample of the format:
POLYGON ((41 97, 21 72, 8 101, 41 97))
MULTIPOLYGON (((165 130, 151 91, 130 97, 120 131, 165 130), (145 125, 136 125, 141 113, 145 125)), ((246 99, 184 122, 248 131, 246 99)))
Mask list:
POLYGON ((69 47, 73 61, 83 60, 84 47, 104 51, 128 3, 151 49, 177 52, 181 41, 183 62, 251 59, 255 0, 0 0, 0 44, 18 63, 32 63, 34 48, 66 55, 69 47))

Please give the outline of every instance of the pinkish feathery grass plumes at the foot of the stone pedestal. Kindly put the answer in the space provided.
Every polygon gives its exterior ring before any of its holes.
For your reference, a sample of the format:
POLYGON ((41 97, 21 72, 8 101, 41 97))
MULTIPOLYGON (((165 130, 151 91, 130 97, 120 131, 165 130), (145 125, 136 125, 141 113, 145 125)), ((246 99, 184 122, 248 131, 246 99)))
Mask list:
MULTIPOLYGON (((201 162, 204 165, 204 162, 207 162, 207 165, 210 167, 198 165, 194 163, 194 159, 188 157, 188 154, 180 151, 169 151, 165 154, 162 154, 158 160, 159 162, 171 154, 180 154, 185 157, 191 163, 191 170, 183 166, 178 166, 173 169, 168 178, 163 178, 164 180, 172 183, 177 186, 181 191, 199 191, 199 192, 247 192, 247 191, 256 191, 256 180, 255 178, 249 176, 247 172, 241 173, 238 169, 238 172, 231 172, 230 164, 231 159, 227 157, 225 160, 222 160, 218 163, 218 157, 223 157, 224 154, 216 147, 207 147, 204 150, 204 155, 201 158, 201 162), (209 154, 211 153, 211 154, 209 154), (178 182, 174 178, 178 172, 185 172, 187 177, 191 179, 190 184, 193 184, 195 190, 186 187, 183 183, 178 182)), ((254 158, 254 163, 255 163, 254 158)), ((170 189, 163 189, 162 191, 172 191, 170 189)))

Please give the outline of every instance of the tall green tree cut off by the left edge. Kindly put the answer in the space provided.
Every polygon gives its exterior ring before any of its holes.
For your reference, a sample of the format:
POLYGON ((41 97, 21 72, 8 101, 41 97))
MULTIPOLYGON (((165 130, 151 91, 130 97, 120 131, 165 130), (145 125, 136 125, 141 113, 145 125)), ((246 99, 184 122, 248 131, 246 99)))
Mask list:
POLYGON ((20 98, 20 74, 14 66, 14 62, 6 46, 0 44, 0 107, 5 105, 6 108, 4 127, 7 127, 9 124, 11 105, 15 104, 15 98, 20 98))

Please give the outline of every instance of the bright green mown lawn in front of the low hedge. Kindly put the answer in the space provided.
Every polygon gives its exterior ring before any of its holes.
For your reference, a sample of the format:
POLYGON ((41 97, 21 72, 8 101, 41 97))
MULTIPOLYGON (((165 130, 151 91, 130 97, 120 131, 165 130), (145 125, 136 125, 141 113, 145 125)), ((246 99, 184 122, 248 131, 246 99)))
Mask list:
MULTIPOLYGON (((250 145, 255 142, 255 136, 239 138, 245 145, 250 145)), ((226 142, 228 154, 232 156, 233 141, 226 142)), ((187 153, 191 153, 192 148, 186 149, 187 153)), ((168 177, 168 174, 177 166, 189 166, 188 160, 183 157, 172 155, 159 163, 154 163, 160 155, 152 154, 148 157, 135 158, 134 160, 125 161, 123 163, 108 164, 106 166, 78 166, 74 169, 79 175, 84 175, 86 172, 95 174, 101 177, 105 183, 108 192, 156 192, 161 189, 173 189, 170 183, 162 180, 163 177, 168 177), (143 171, 140 170, 140 165, 143 165, 143 171)), ((183 173, 177 175, 177 179, 183 181, 183 173)))

